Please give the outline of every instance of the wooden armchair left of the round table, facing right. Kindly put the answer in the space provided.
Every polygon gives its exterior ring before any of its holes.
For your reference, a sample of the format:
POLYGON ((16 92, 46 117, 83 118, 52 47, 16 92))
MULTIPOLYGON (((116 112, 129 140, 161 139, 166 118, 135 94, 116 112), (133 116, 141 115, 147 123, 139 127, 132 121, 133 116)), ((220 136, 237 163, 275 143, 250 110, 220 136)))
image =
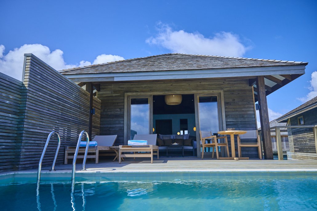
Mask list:
POLYGON ((229 147, 228 147, 227 136, 217 137, 215 135, 212 135, 211 132, 207 132, 207 131, 199 131, 199 134, 200 134, 201 144, 203 147, 201 159, 204 159, 204 148, 205 147, 212 147, 212 158, 214 158, 214 152, 215 152, 214 147, 216 147, 216 155, 217 155, 217 159, 219 160, 218 146, 225 146, 227 148, 227 153, 229 156, 229 147), (219 139, 224 139, 224 143, 218 143, 219 139), (211 140, 211 141, 210 141, 210 143, 206 143, 206 140, 211 140))

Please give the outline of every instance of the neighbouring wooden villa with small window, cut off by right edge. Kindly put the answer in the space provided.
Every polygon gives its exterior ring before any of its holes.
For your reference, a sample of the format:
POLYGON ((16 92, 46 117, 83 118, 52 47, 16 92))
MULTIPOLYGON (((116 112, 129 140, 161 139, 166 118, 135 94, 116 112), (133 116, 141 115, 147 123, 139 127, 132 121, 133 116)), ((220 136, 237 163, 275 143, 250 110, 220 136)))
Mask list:
MULTIPOLYGON (((317 96, 277 119, 288 126, 317 125, 317 96)), ((288 128, 288 159, 317 159, 313 128, 288 128)))

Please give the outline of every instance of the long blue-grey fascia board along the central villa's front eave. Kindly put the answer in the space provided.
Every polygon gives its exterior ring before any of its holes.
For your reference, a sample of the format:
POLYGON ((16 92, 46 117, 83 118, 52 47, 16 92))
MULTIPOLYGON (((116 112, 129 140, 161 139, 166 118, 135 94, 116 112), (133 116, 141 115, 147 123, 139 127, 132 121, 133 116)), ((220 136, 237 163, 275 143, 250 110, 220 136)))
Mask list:
POLYGON ((101 81, 136 81, 136 80, 164 80, 164 79, 195 79, 195 78, 228 78, 246 76, 265 76, 282 74, 305 74, 305 64, 222 68, 205 70, 172 70, 172 71, 140 71, 118 73, 86 73, 63 74, 74 82, 101 81))

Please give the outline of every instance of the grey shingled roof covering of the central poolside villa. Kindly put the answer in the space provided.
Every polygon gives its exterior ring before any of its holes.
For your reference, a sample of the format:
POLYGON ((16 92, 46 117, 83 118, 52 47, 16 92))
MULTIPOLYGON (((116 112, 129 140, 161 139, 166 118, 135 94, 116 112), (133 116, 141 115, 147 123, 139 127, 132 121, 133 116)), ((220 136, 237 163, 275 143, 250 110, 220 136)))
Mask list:
POLYGON ((282 61, 274 59, 252 59, 242 57, 223 57, 167 53, 136 59, 126 59, 99 65, 89 65, 62 70, 62 74, 119 73, 169 70, 204 70, 241 67, 265 67, 299 65, 306 62, 282 61))

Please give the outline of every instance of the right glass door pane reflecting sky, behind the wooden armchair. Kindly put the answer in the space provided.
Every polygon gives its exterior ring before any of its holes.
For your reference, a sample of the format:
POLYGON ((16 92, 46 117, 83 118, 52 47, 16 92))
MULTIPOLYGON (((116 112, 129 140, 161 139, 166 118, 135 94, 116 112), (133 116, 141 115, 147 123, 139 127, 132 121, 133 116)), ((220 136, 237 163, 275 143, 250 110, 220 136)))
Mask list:
POLYGON ((200 130, 217 133, 219 131, 217 96, 199 96, 198 108, 200 130))

